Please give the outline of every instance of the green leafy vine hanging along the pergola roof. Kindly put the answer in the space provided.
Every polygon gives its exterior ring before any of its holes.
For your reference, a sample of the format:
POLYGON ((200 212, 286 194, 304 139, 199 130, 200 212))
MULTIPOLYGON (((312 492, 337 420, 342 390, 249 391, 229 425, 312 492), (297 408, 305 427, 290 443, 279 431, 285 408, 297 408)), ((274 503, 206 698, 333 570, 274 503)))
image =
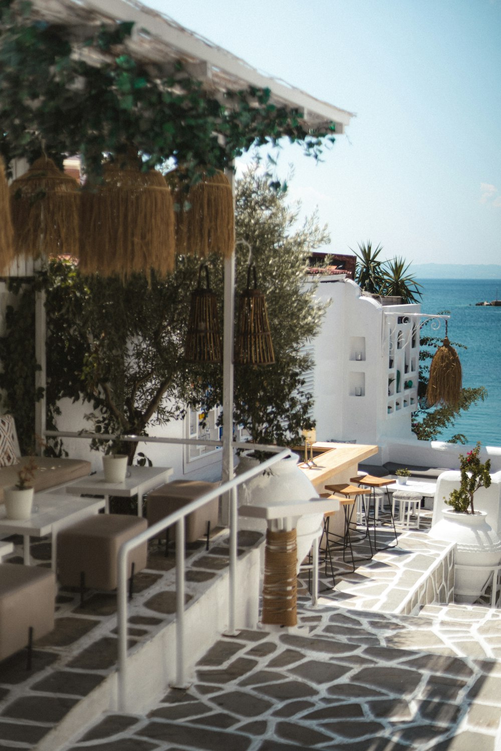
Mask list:
POLYGON ((0 0, 0 152, 7 163, 33 161, 43 144, 59 164, 64 155, 82 155, 96 176, 104 153, 133 143, 145 168, 174 160, 193 182, 200 167, 228 167, 252 144, 287 137, 319 158, 333 142, 333 124, 307 130, 298 110, 270 101, 269 89, 216 97, 181 62, 169 75, 144 65, 123 44, 132 29, 101 26, 77 44, 68 27, 36 20, 31 3, 0 0), (90 52, 100 65, 86 62, 90 52))

